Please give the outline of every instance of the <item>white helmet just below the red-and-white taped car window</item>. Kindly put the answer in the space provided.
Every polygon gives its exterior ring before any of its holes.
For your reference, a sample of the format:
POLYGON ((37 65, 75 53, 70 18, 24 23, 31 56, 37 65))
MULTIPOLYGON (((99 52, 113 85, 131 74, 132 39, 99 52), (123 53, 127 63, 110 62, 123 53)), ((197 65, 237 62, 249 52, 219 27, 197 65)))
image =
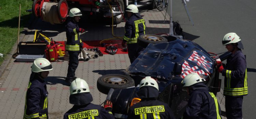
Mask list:
POLYGON ((204 81, 205 80, 201 78, 197 73, 190 73, 186 75, 182 83, 185 84, 183 87, 187 87, 204 81))

